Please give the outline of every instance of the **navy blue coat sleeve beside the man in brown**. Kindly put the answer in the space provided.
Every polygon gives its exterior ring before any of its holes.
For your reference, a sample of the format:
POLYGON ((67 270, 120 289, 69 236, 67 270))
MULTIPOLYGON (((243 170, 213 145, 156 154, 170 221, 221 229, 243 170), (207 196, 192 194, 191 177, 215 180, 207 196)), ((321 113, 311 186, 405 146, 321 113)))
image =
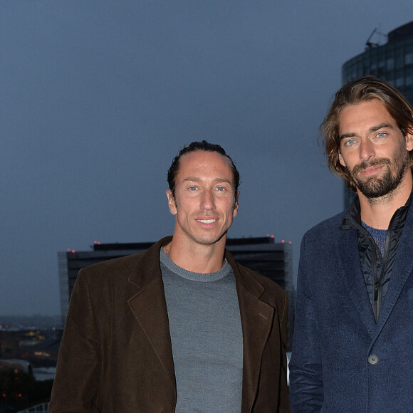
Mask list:
POLYGON ((289 364, 292 413, 320 412, 324 399, 319 328, 306 259, 304 237, 300 247, 296 323, 289 364))

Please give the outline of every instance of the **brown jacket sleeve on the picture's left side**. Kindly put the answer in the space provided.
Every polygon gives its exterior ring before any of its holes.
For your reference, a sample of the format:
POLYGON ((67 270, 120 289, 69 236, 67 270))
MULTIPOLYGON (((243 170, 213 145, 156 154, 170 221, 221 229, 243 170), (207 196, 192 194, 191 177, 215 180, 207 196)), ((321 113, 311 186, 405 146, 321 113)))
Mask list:
POLYGON ((58 355, 49 413, 98 412, 100 338, 85 270, 79 272, 70 298, 58 355))

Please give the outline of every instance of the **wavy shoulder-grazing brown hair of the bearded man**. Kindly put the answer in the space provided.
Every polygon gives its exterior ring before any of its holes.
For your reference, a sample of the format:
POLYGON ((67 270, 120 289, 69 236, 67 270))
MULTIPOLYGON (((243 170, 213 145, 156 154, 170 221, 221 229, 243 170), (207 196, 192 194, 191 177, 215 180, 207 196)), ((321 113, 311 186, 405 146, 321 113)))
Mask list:
MULTIPOLYGON (((403 135, 413 133, 413 109, 406 98, 392 85, 374 76, 364 76, 343 85, 328 110, 323 123, 320 125, 320 134, 323 139, 328 167, 335 174, 345 179, 347 187, 356 192, 354 182, 346 167, 340 164, 340 133, 338 130, 340 112, 348 105, 367 102, 377 99, 386 108, 387 112, 396 121, 397 127, 403 135)), ((413 172, 413 151, 410 151, 410 167, 413 172)))

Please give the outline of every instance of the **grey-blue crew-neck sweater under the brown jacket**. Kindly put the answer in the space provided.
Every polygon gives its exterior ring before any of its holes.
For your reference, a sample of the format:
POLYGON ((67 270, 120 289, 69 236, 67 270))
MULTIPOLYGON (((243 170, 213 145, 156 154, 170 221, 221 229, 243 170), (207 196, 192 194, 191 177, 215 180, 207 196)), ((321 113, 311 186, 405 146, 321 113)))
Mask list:
POLYGON ((241 412, 242 328, 229 263, 193 273, 161 250, 177 380, 177 413, 241 412))

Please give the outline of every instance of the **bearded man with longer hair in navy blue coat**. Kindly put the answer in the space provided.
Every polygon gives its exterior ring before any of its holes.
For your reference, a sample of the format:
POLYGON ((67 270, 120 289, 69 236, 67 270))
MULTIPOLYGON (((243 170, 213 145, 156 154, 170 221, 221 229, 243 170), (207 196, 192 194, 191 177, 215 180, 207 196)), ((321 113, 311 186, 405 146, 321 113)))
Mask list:
POLYGON ((301 243, 292 412, 413 412, 413 110, 367 76, 321 126, 350 209, 301 243))

